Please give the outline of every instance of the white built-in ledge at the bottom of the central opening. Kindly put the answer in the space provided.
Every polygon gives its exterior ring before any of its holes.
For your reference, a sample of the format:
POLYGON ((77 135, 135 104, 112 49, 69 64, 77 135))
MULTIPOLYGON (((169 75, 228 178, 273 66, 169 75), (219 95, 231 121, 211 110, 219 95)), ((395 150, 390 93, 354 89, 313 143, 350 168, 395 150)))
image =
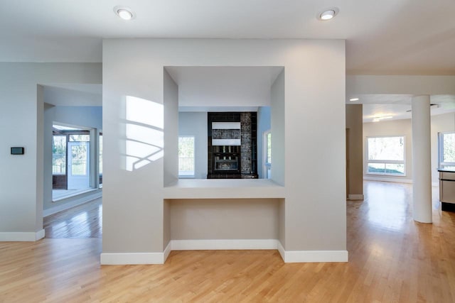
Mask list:
POLYGON ((164 199, 284 198, 285 190, 265 179, 178 180, 164 187, 164 199))

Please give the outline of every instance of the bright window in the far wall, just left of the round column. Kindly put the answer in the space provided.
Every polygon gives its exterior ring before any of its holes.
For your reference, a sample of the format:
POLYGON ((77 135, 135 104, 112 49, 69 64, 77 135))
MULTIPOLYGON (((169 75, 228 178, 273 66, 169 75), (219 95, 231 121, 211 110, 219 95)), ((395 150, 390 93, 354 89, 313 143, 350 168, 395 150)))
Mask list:
POLYGON ((405 136, 368 137, 368 174, 405 175, 405 136))

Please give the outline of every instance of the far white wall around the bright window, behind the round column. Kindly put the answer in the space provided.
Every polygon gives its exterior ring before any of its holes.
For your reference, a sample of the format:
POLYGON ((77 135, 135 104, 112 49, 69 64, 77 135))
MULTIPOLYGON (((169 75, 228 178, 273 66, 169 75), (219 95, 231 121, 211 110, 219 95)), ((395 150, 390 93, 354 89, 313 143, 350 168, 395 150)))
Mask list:
MULTIPOLYGON (((455 131, 455 114, 441 114, 432 116, 431 118, 431 150, 432 150, 432 183, 439 182, 439 174, 437 172, 439 165, 438 151, 438 133, 444 131, 455 131)), ((378 123, 363 123, 363 172, 364 177, 376 180, 390 180, 398 182, 412 182, 412 120, 402 119, 395 121, 381 121, 378 123), (366 137, 368 136, 406 136, 406 176, 382 176, 368 175, 367 171, 367 155, 366 155, 366 137)))

